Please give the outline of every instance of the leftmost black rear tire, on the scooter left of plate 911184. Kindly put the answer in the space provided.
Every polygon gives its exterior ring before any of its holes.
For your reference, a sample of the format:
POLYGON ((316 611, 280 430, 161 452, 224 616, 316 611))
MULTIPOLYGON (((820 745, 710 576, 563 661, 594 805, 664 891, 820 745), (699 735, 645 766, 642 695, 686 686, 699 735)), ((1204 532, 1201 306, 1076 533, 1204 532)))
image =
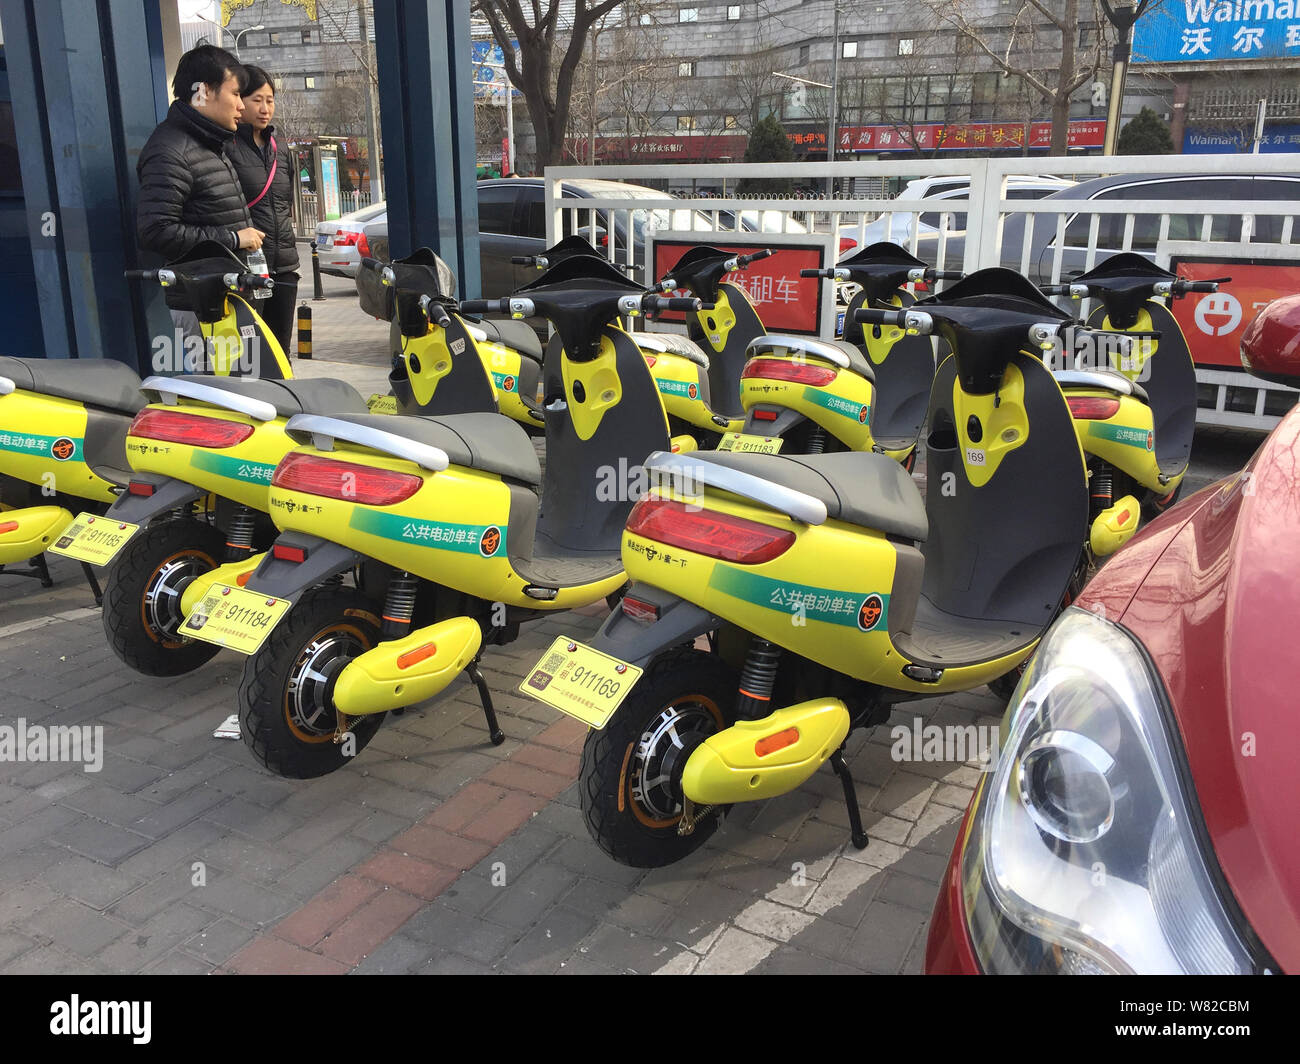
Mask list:
POLYGON ((104 583, 104 635, 146 676, 179 676, 221 650, 177 635, 181 592, 225 557, 226 537, 207 522, 173 518, 142 529, 122 548, 104 583))

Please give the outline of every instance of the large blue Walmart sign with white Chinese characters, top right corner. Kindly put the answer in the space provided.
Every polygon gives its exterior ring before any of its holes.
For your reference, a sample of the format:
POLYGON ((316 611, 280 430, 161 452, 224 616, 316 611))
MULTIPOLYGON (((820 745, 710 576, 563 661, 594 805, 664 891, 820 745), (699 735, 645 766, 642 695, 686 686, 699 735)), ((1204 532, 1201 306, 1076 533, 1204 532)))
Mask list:
POLYGON ((1300 57, 1300 0, 1165 0, 1134 27, 1134 62, 1300 57))

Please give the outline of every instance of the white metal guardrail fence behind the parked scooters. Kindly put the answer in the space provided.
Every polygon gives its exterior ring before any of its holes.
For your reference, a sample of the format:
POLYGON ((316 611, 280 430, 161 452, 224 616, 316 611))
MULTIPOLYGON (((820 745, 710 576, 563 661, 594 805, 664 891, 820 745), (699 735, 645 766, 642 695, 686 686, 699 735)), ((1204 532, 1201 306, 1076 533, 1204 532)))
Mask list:
MULTIPOLYGON (((646 232, 696 229, 734 232, 740 212, 749 221, 760 220, 763 233, 829 234, 831 247, 842 238, 863 242, 867 226, 887 217, 884 232, 896 230, 896 219, 910 221, 902 245, 939 269, 961 268, 970 273, 991 265, 1005 265, 1026 274, 1035 284, 1057 284, 1091 269, 1100 259, 1117 251, 1139 251, 1169 267, 1170 260, 1206 259, 1223 263, 1231 274, 1234 263, 1262 260, 1297 267, 1300 278, 1300 180, 1294 198, 1254 199, 1011 199, 1008 178, 1014 176, 1054 176, 1087 181, 1101 176, 1179 176, 1196 173, 1213 178, 1261 176, 1300 178, 1300 155, 1219 155, 1219 156, 1089 156, 1089 157, 1000 157, 939 160, 870 160, 852 163, 741 163, 727 165, 658 164, 610 166, 546 168, 546 238, 575 230, 595 232, 595 226, 633 233, 633 239, 610 241, 611 259, 641 265, 649 273, 646 232), (853 178, 970 178, 965 198, 952 199, 764 199, 732 196, 719 199, 663 194, 663 199, 564 196, 559 182, 573 178, 599 178, 629 183, 708 180, 734 186, 741 178, 793 178, 811 185, 833 177, 844 186, 853 178), (679 213, 679 212, 696 213, 679 213), (937 215, 937 226, 918 224, 920 215, 937 215), (961 215, 965 228, 958 228, 961 215), (1108 219, 1122 219, 1108 224, 1108 219), (1278 224, 1274 220, 1279 220, 1278 224), (1269 235, 1268 242, 1256 239, 1269 235), (616 247, 616 245, 621 245, 616 247)), ((1128 194, 1136 190, 1130 189, 1128 194)), ((745 226, 749 228, 749 226, 745 226)), ((875 226, 876 230, 881 226, 875 226)), ((754 238, 760 242, 760 234, 754 238)), ((1242 267, 1245 268, 1244 265, 1242 267)), ((1300 290, 1300 285, 1297 285, 1300 290)), ((1210 297, 1212 298, 1212 297, 1210 297)), ((1058 299, 1062 307, 1070 300, 1058 299)), ((1087 302, 1072 304, 1084 315, 1087 302)), ((1240 306, 1249 323, 1257 306, 1240 306)), ((762 312, 762 311, 760 311, 762 312)), ((1206 330, 1212 332, 1212 330, 1206 330)), ((1226 330, 1225 330, 1226 332, 1226 330)), ((1193 352, 1200 347, 1188 337, 1193 352)), ((1204 350, 1204 349, 1201 349, 1204 350)), ((1218 352, 1226 360, 1225 352, 1218 352)), ((1235 355, 1234 355, 1235 356, 1235 355)), ((1230 366, 1199 367, 1197 421, 1202 424, 1269 429, 1294 403, 1296 393, 1247 375, 1230 366)))

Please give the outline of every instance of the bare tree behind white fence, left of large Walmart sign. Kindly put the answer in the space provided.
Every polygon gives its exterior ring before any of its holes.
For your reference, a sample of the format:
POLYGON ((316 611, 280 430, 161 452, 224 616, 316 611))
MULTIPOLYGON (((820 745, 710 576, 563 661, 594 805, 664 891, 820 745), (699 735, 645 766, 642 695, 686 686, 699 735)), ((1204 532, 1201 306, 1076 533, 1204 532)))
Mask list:
POLYGON ((1070 98, 1095 81, 1113 35, 1098 0, 1019 0, 1010 23, 974 14, 976 0, 928 0, 931 9, 968 38, 1008 77, 1020 78, 1052 112, 1049 155, 1065 155, 1070 98), (1096 27, 1079 47, 1079 27, 1096 27))

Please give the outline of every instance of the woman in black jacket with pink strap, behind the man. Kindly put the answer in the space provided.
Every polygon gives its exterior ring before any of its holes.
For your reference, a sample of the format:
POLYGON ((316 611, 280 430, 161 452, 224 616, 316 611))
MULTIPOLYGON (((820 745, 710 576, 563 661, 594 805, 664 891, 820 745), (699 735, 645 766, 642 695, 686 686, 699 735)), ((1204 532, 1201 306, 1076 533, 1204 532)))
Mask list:
POLYGON ((244 66, 243 121, 228 153, 239 174, 252 224, 266 234, 261 250, 276 281, 269 299, 259 300, 257 312, 290 354, 294 337, 294 307, 298 303, 298 243, 291 213, 294 164, 289 144, 276 137, 276 87, 260 66, 244 66))

